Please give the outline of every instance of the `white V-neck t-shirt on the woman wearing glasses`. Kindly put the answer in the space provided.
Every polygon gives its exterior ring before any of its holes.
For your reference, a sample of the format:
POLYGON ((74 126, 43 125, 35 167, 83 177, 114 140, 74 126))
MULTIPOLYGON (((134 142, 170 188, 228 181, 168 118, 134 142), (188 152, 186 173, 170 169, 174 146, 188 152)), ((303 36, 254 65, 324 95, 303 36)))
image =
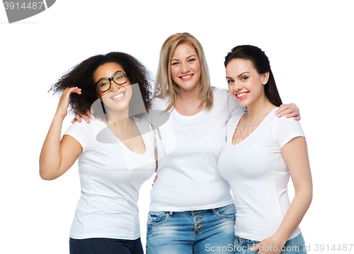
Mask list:
POLYGON ((78 158, 81 197, 71 238, 139 238, 139 188, 156 164, 154 131, 144 119, 135 122, 146 148, 143 155, 125 147, 99 119, 76 122, 65 133, 83 149, 78 158))

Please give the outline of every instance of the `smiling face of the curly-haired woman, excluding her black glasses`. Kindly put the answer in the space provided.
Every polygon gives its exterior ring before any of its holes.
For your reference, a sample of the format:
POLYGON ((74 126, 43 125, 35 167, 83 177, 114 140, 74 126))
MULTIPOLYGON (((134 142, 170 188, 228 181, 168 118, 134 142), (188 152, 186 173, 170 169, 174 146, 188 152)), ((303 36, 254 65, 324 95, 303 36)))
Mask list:
MULTIPOLYGON (((98 67, 93 72, 93 81, 96 83, 101 79, 108 79, 118 72, 123 72, 123 68, 116 62, 108 62, 98 67)), ((109 82, 107 80, 107 82, 109 82)), ((101 96, 106 109, 113 114, 114 112, 129 111, 129 102, 132 98, 132 87, 129 79, 125 84, 116 84, 110 81, 110 89, 106 92, 100 92, 96 88, 96 92, 101 96)))

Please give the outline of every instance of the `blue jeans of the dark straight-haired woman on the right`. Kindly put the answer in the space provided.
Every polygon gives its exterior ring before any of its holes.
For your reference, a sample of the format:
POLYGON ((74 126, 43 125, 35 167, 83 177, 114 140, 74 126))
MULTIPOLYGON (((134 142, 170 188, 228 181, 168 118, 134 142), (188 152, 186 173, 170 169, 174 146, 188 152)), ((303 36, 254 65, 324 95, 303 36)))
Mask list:
MULTIPOLYGON (((260 243, 260 241, 252 241, 236 236, 234 249, 236 250, 236 254, 258 253, 258 251, 249 250, 253 245, 257 245, 258 243, 260 243)), ((267 247, 265 247, 264 250, 268 250, 267 247)), ((299 236, 288 240, 282 247, 282 252, 280 254, 307 254, 302 233, 300 233, 299 236)))

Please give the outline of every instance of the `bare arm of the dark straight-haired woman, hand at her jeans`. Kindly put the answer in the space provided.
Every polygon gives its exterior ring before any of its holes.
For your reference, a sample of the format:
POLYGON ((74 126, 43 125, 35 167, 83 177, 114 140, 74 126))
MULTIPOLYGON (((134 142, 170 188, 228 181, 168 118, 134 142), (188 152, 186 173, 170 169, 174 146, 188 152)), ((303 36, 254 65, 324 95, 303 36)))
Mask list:
POLYGON ((285 245, 287 239, 299 226, 312 201, 312 177, 305 138, 293 138, 282 147, 281 151, 292 177, 295 197, 275 234, 265 238, 256 248, 253 248, 253 251, 259 250, 258 253, 260 254, 281 252, 282 246, 285 245), (273 248, 264 248, 270 245, 273 248), (264 251, 264 249, 275 250, 275 246, 278 247, 278 251, 264 251))

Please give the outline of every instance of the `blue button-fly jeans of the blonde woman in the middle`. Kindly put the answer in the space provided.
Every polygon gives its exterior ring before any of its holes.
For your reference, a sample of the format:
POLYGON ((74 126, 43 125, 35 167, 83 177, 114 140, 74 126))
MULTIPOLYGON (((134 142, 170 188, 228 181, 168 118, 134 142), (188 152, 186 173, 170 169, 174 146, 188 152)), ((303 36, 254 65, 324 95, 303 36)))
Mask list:
POLYGON ((150 211, 147 254, 234 253, 234 204, 199 211, 150 211))

